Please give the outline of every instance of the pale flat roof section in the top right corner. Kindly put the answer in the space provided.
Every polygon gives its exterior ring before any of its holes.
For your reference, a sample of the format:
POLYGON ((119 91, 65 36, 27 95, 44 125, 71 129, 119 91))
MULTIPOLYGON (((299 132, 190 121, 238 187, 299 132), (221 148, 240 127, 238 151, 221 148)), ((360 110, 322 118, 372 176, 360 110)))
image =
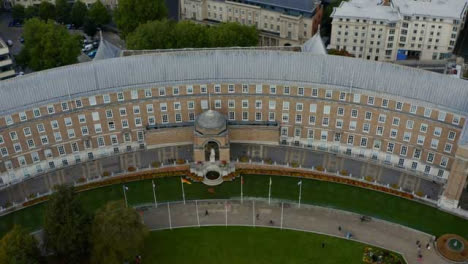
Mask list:
POLYGON ((467 0, 392 0, 403 15, 463 18, 467 0))

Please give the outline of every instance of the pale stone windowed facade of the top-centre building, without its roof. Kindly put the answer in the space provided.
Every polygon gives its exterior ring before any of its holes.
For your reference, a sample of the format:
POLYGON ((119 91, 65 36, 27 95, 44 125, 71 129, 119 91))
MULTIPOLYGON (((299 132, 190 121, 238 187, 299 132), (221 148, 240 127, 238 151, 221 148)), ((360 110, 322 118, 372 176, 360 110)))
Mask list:
MULTIPOLYGON (((316 1, 321 17, 320 2, 316 1)), ((314 17, 287 15, 260 6, 216 0, 180 0, 180 18, 205 23, 238 22, 261 31, 263 46, 300 45, 311 38, 318 25, 314 17)))

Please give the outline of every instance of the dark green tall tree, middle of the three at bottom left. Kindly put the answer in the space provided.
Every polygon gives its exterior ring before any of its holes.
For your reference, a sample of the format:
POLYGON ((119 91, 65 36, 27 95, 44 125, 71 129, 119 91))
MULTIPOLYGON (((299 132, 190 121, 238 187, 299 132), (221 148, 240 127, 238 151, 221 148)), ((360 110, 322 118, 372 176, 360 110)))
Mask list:
POLYGON ((88 253, 89 224, 75 189, 58 186, 45 211, 44 243, 47 249, 66 263, 80 263, 88 253))

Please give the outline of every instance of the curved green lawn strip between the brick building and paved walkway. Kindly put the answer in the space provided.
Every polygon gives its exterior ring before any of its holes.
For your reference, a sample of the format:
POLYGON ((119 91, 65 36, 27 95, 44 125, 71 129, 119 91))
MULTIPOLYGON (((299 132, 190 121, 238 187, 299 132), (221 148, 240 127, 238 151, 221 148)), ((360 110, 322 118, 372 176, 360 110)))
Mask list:
MULTIPOLYGON (((269 176, 244 176, 244 196, 268 197, 269 176)), ((291 177, 272 177, 272 197, 297 201, 298 179, 291 177)), ((158 202, 182 200, 179 177, 155 180, 158 202)), ((128 202, 131 205, 153 202, 151 180, 126 184, 128 202)), ((445 233, 459 234, 468 238, 468 221, 444 213, 436 208, 409 201, 393 195, 344 184, 303 180, 302 202, 333 207, 366 214, 403 224, 421 231, 440 236, 445 233)), ((184 184, 187 200, 218 199, 240 197, 240 180, 225 182, 217 187, 208 187, 202 183, 184 184), (210 188, 214 193, 209 192, 210 188)), ((123 199, 122 185, 102 187, 80 193, 89 212, 107 201, 123 199)), ((13 223, 21 224, 31 230, 40 228, 43 205, 37 205, 0 218, 0 235, 8 231, 13 223)))

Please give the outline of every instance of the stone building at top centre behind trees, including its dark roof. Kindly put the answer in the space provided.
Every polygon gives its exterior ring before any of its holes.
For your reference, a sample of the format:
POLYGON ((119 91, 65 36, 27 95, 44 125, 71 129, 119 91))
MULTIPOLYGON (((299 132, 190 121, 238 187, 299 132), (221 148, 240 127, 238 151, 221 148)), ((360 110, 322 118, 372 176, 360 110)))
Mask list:
POLYGON ((311 38, 322 20, 318 0, 225 1, 181 0, 180 18, 209 25, 238 22, 260 31, 261 46, 300 45, 311 38))

